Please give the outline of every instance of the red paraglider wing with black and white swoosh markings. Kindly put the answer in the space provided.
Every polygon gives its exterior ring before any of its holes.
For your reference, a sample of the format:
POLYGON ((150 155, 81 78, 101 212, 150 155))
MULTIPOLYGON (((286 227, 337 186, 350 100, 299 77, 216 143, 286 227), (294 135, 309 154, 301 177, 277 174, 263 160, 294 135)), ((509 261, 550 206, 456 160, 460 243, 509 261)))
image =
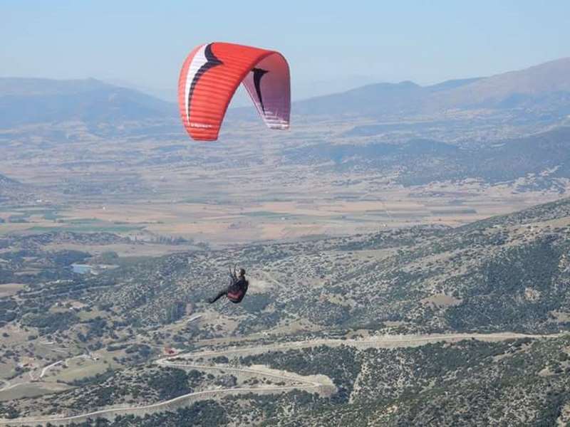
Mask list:
POLYGON ((178 80, 182 123, 192 139, 217 139, 229 101, 243 83, 266 125, 287 129, 289 80, 289 65, 279 52, 232 43, 197 46, 178 80))

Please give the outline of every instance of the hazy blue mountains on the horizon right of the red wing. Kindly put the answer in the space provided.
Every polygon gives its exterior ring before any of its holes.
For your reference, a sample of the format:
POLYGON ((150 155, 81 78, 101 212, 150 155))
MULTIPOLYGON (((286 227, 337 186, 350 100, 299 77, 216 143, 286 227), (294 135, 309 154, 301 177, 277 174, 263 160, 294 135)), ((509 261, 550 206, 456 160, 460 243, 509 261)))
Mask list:
POLYGON ((366 85, 296 102, 298 115, 416 115, 480 108, 563 110, 570 114, 570 58, 487 78, 449 80, 431 86, 412 82, 366 85))

